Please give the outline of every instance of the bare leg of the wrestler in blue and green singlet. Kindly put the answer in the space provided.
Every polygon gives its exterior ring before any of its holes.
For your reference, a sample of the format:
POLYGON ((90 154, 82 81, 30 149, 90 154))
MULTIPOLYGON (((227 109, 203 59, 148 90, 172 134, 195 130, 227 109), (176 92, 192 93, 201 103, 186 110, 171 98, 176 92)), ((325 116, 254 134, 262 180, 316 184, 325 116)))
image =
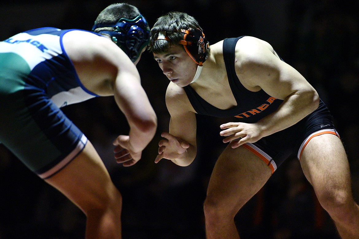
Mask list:
POLYGON ((90 141, 74 160, 46 182, 84 212, 87 239, 121 238, 122 197, 90 141))

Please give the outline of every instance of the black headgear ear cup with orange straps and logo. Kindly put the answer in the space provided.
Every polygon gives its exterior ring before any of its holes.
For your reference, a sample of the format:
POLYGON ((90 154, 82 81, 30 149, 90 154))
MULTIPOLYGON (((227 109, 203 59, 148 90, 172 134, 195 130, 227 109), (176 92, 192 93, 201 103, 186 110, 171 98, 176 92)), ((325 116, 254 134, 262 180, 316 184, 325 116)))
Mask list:
POLYGON ((202 63, 207 60, 209 53, 209 42, 204 33, 196 29, 181 29, 185 33, 183 40, 179 43, 183 45, 188 55, 196 62, 197 65, 202 66, 202 63))

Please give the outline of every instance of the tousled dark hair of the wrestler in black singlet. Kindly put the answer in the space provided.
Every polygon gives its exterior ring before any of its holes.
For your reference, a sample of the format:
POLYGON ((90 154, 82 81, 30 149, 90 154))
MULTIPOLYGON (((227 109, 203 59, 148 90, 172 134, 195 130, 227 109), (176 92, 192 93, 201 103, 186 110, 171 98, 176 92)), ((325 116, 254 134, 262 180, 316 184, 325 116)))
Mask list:
POLYGON ((181 32, 181 29, 200 29, 199 23, 194 17, 186 13, 181 13, 178 11, 171 11, 165 15, 159 17, 156 23, 153 25, 150 33, 150 43, 148 45, 149 50, 154 53, 164 53, 167 52, 171 44, 179 44, 183 40, 185 33, 181 32), (159 32, 165 31, 165 36, 167 40, 162 40, 158 38, 159 32))

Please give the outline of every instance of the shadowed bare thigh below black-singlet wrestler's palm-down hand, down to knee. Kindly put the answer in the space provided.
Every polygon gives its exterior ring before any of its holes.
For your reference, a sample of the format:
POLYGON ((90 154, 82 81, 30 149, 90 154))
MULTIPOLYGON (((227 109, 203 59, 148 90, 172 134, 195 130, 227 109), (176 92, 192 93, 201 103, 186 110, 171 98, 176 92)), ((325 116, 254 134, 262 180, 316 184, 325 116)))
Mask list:
POLYGON ((219 156, 208 186, 207 199, 241 208, 267 182, 270 168, 243 146, 226 147, 219 156))

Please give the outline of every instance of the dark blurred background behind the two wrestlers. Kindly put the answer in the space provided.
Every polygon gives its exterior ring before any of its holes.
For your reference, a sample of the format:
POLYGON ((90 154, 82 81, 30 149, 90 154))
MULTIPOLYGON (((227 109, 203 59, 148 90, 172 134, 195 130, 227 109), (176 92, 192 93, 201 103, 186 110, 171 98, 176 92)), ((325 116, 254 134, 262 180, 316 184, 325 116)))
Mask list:
MULTIPOLYGON (((199 21, 210 43, 250 35, 272 44, 317 89, 335 117, 349 157, 354 197, 359 200, 358 1, 125 2, 137 6, 150 26, 168 11, 185 11, 199 21)), ((117 1, 1 1, 0 40, 38 27, 90 30, 99 12, 112 3, 117 1)), ((197 116, 199 150, 190 166, 168 160, 155 164, 160 133, 168 130, 164 96, 169 81, 150 52, 143 54, 137 68, 157 113, 158 131, 134 166, 125 168, 113 159, 112 141, 129 129, 112 97, 66 106, 63 111, 92 141, 122 193, 124 239, 204 239, 202 203, 211 170, 225 147, 219 125, 228 120, 197 116)), ((235 220, 242 239, 338 238, 296 159, 282 164, 235 220)), ((84 227, 85 217, 78 208, 0 145, 0 239, 78 239, 84 237, 84 227)))

